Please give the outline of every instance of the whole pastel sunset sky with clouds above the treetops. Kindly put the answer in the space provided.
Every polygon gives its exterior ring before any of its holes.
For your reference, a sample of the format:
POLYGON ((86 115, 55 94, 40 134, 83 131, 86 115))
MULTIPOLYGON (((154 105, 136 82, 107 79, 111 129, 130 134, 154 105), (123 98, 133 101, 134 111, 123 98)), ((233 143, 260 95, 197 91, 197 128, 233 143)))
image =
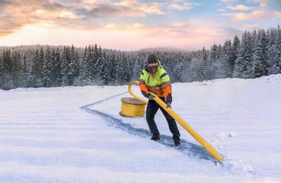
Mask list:
POLYGON ((0 46, 210 49, 281 23, 279 0, 1 0, 0 10, 0 46))

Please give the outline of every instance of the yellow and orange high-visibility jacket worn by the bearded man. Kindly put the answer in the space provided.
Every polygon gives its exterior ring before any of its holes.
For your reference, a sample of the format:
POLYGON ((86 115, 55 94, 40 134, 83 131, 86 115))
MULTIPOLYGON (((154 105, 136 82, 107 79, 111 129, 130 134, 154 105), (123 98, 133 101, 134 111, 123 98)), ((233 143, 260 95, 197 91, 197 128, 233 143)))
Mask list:
POLYGON ((154 80, 148 71, 148 67, 143 69, 139 78, 139 89, 141 89, 145 97, 149 97, 149 93, 153 92, 158 97, 164 97, 166 102, 172 103, 172 84, 170 77, 159 60, 157 75, 154 80))

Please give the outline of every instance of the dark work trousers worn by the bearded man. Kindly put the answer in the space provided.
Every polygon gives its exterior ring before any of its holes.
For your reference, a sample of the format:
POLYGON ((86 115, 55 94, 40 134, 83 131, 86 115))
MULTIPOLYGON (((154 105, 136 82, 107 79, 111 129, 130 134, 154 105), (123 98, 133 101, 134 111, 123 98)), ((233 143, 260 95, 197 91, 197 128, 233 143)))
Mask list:
MULTIPOLYGON (((165 99, 161 97, 161 100, 165 102, 165 99)), ((159 131, 157 128, 157 125, 155 123, 154 117, 155 114, 157 113, 158 109, 162 111, 164 114, 171 133, 173 134, 173 139, 174 141, 180 140, 180 131, 178 129, 177 123, 175 119, 168 113, 166 112, 156 101, 154 100, 149 100, 148 105, 147 105, 147 122, 150 128, 151 133, 153 133, 153 136, 159 137, 159 131)))

